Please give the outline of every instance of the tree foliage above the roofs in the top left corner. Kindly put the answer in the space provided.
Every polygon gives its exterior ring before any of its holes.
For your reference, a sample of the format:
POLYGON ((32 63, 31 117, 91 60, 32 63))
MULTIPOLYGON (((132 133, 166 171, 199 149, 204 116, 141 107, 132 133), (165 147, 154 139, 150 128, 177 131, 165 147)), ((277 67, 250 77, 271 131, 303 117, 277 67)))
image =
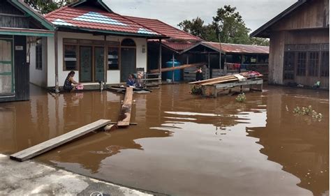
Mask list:
POLYGON ((72 3, 76 0, 24 0, 31 8, 34 8, 41 14, 47 14, 53 10, 57 10, 63 6, 66 6, 68 3, 72 3))

